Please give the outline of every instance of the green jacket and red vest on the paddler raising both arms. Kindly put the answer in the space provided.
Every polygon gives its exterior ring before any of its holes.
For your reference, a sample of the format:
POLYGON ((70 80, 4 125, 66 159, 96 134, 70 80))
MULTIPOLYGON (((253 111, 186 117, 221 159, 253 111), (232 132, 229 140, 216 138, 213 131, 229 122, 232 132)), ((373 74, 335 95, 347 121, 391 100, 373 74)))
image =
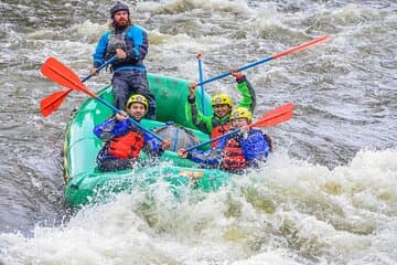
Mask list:
MULTIPOLYGON (((243 99, 238 103, 237 107, 248 108, 251 113, 256 107, 256 95, 251 84, 247 81, 245 75, 242 78, 236 78, 237 89, 243 96, 243 99)), ((230 129, 229 117, 227 114, 225 117, 204 116, 195 103, 195 98, 190 99, 187 96, 187 103, 185 106, 186 117, 191 118, 193 124, 204 134, 208 134, 211 138, 215 138, 221 135, 225 135, 230 129)), ((215 147, 217 141, 213 142, 215 147)))

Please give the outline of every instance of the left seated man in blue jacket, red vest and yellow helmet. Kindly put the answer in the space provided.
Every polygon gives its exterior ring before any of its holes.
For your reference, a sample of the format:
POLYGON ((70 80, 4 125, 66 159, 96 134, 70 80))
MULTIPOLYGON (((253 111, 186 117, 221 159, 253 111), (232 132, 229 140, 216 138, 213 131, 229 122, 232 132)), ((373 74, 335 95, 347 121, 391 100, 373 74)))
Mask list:
POLYGON ((94 128, 94 134, 105 141, 97 156, 101 171, 132 168, 141 149, 150 157, 158 157, 170 148, 169 140, 160 144, 151 135, 140 131, 128 119, 130 117, 139 123, 146 115, 148 99, 144 96, 132 95, 127 102, 126 112, 116 114, 94 128))

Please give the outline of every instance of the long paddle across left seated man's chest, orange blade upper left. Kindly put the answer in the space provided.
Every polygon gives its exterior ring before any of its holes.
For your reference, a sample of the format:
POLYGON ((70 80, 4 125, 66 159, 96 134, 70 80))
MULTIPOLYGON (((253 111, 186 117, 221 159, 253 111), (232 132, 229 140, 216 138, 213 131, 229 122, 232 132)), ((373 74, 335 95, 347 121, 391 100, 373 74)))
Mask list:
MULTIPOLYGON (((120 109, 116 108, 115 106, 112 106, 111 104, 109 104, 108 102, 106 102, 105 99, 99 97, 94 92, 89 91, 83 84, 83 82, 78 78, 78 76, 69 67, 67 67, 66 65, 64 65, 63 63, 61 63, 60 61, 57 61, 54 57, 49 57, 45 61, 45 63, 41 67, 41 72, 42 72, 42 74, 44 76, 49 77, 50 80, 54 81, 55 83, 58 83, 62 86, 65 86, 65 87, 67 87, 69 89, 73 89, 73 91, 83 92, 83 93, 89 95, 90 97, 94 97, 95 99, 97 99, 101 104, 109 107, 115 113, 120 113, 121 112, 120 109)), ((159 141, 163 141, 163 139, 160 136, 158 136, 153 131, 144 128, 138 121, 133 120, 130 117, 128 119, 136 127, 138 127, 138 128, 142 129, 143 131, 150 134, 151 136, 153 136, 159 141)))

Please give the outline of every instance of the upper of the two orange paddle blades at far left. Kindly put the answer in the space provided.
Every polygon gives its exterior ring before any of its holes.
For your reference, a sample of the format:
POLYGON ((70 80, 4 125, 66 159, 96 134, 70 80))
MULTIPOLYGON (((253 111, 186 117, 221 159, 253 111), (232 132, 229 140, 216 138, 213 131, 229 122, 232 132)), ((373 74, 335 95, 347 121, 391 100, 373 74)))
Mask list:
POLYGON ((44 76, 54 81, 55 83, 67 87, 69 89, 79 91, 88 94, 89 96, 96 98, 97 95, 90 92, 81 81, 81 78, 66 65, 61 63, 54 57, 49 57, 43 66, 41 72, 44 76))

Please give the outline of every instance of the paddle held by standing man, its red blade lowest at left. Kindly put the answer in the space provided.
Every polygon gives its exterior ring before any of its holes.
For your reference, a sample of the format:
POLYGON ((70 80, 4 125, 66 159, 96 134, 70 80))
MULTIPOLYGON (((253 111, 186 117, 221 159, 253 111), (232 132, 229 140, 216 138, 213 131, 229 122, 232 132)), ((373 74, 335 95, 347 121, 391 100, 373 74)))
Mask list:
MULTIPOLYGON (((112 62, 115 62, 117 60, 117 56, 112 56, 111 59, 109 59, 108 61, 106 61, 103 65, 100 65, 95 73, 99 73, 99 71, 101 71, 103 68, 105 68, 107 65, 111 64, 112 62)), ((90 77, 93 77, 94 74, 87 75, 86 77, 84 77, 82 80, 82 82, 86 82, 87 80, 89 80, 90 77)), ((50 114, 52 114, 53 112, 55 112, 56 109, 58 109, 58 107, 61 106, 61 104, 63 103, 63 100, 65 100, 65 98, 67 97, 67 95, 72 92, 73 89, 67 89, 67 91, 58 91, 58 92, 54 92, 53 94, 51 94, 50 96, 43 98, 40 102, 40 109, 41 113, 44 117, 49 116, 50 114)))

